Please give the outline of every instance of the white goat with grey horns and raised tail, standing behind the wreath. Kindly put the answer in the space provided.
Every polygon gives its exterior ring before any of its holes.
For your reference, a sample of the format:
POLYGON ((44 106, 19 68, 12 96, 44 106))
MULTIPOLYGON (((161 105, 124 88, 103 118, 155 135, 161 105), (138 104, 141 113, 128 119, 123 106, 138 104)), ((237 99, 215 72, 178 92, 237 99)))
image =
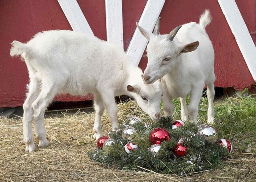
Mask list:
POLYGON ((137 24, 142 35, 149 40, 144 79, 150 84, 162 78, 163 110, 166 116, 173 114, 172 99, 179 97, 181 119, 186 121, 189 116, 195 122, 202 91, 207 84, 208 123, 214 123, 214 50, 205 30, 211 21, 210 12, 206 9, 199 24, 190 22, 179 25, 165 35, 159 35, 160 18, 153 34, 137 24), (189 93, 190 103, 186 108, 186 96, 189 93))

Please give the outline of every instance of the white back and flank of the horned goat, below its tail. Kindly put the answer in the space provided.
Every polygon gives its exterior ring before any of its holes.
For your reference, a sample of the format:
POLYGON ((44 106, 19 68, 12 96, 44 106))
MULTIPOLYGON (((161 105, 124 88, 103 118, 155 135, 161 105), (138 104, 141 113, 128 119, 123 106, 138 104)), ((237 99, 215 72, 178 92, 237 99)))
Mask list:
POLYGON ((189 74, 198 74, 205 83, 214 80, 214 49, 205 28, 195 22, 184 24, 176 38, 182 44, 199 41, 195 51, 181 54, 180 57, 189 74))

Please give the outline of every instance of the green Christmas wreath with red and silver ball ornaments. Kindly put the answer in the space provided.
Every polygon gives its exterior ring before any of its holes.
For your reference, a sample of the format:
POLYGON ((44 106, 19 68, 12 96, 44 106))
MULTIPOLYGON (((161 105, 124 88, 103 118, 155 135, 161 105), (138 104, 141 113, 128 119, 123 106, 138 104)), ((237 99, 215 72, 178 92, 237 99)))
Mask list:
POLYGON ((216 169, 232 151, 225 139, 218 140, 211 125, 174 121, 161 117, 151 125, 133 116, 116 131, 99 138, 89 158, 121 170, 189 174, 216 169))

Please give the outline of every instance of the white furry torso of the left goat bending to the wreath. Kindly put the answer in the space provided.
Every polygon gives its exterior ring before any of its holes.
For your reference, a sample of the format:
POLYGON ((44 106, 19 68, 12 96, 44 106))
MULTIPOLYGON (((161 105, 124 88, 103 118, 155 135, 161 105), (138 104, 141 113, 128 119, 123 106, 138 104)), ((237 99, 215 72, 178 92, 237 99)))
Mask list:
POLYGON ((97 37, 55 30, 38 33, 25 45, 30 50, 23 54, 27 66, 40 80, 62 82, 60 93, 84 95, 102 83, 115 87, 122 82, 125 52, 97 37))

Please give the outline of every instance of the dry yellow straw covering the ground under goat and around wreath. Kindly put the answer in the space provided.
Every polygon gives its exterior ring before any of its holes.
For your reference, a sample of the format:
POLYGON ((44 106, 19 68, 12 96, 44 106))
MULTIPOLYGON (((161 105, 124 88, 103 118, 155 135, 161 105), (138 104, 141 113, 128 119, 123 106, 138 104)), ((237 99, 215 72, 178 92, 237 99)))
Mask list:
MULTIPOLYGON (((119 104, 118 108, 119 123, 132 115, 149 119, 134 101, 119 104)), ((256 181, 256 154, 236 149, 222 169, 184 176, 113 170, 91 162, 87 151, 96 148, 92 132, 94 114, 78 111, 47 117, 50 146, 33 153, 24 151, 21 119, 0 119, 0 181, 256 181)), ((104 113, 103 134, 110 130, 111 123, 104 113)), ((35 137, 34 141, 38 144, 35 137)))

